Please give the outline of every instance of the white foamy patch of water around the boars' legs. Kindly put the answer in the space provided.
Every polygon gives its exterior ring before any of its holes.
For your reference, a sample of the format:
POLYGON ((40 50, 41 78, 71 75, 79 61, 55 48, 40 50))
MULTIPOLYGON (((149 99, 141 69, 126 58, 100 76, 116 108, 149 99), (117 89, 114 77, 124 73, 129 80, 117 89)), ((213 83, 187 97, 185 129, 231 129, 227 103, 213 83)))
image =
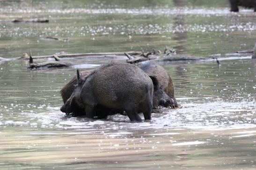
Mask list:
MULTIPOLYGON (((157 113, 152 113, 152 120, 138 123, 131 123, 128 116, 119 114, 108 116, 107 120, 91 120, 86 117, 68 117, 59 111, 59 107, 45 107, 47 110, 43 113, 22 112, 22 116, 28 117, 27 121, 18 121, 18 117, 13 117, 14 119, 9 121, 1 120, 2 124, 0 126, 40 127, 42 129, 81 129, 86 132, 99 130, 118 131, 118 134, 112 135, 130 134, 127 129, 218 130, 256 128, 255 100, 246 101, 239 99, 236 102, 225 102, 219 98, 205 97, 204 103, 194 101, 194 98, 184 102, 188 103, 181 102, 180 104, 183 106, 182 109, 158 109, 157 113), (17 121, 15 121, 16 119, 17 121)), ((139 116, 143 118, 143 114, 139 116)), ((159 135, 176 134, 177 133, 173 132, 159 135)))

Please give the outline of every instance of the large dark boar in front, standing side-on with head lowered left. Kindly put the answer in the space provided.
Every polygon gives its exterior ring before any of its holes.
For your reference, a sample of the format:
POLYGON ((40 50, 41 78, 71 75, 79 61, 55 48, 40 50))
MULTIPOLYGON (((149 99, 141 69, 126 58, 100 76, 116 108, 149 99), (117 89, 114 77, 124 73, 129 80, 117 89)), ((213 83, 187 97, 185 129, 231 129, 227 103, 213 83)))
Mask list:
MULTIPOLYGON (((154 80, 156 81, 156 80, 154 80)), ((126 63, 109 63, 83 78, 77 71, 77 85, 61 111, 71 113, 77 105, 84 108, 86 117, 94 118, 95 107, 124 110, 131 121, 151 119, 154 84, 139 67, 126 63)))

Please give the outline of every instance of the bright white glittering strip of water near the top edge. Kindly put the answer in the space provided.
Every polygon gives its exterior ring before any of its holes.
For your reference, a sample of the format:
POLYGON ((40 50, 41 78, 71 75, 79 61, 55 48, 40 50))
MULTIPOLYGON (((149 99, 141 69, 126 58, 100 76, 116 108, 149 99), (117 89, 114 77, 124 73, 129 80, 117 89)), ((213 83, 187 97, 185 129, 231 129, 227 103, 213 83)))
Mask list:
MULTIPOLYGON (((241 14, 247 14, 252 10, 244 9, 240 10, 241 14)), ((132 15, 227 15, 235 14, 229 11, 229 8, 106 8, 106 9, 88 9, 88 8, 70 8, 70 9, 17 9, 17 8, 0 8, 0 13, 22 13, 22 14, 31 14, 31 13, 50 13, 50 14, 132 14, 132 15)))

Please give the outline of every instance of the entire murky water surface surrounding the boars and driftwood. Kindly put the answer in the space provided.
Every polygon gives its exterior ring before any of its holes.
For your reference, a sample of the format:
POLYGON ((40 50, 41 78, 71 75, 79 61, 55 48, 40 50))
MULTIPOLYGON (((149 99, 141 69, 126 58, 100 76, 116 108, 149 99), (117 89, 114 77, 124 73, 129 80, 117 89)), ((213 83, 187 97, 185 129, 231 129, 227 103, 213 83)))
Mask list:
POLYGON ((181 2, 0 1, 0 57, 30 49, 48 55, 163 51, 168 45, 178 54, 221 58, 219 68, 214 60, 161 62, 183 108, 154 110, 152 120, 142 123, 59 111, 59 91, 76 68, 106 60, 68 59, 77 65, 33 71, 28 61, 0 62, 0 169, 254 170, 256 61, 234 51, 254 46, 256 14, 242 8, 229 13, 222 0, 181 2), (10 22, 20 17, 50 23, 10 22))

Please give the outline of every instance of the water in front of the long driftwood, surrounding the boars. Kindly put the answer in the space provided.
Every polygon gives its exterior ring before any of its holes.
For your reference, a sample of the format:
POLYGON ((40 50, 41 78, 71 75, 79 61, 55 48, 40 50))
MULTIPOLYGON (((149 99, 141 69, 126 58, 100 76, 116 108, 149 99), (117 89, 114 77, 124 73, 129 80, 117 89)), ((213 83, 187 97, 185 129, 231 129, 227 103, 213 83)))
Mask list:
POLYGON ((21 61, 5 62, 0 70, 0 166, 253 170, 255 62, 221 63, 219 69, 215 61, 165 63, 183 109, 154 110, 151 121, 130 123, 122 115, 91 121, 61 113, 59 90, 75 75, 74 68, 31 72, 21 61))

